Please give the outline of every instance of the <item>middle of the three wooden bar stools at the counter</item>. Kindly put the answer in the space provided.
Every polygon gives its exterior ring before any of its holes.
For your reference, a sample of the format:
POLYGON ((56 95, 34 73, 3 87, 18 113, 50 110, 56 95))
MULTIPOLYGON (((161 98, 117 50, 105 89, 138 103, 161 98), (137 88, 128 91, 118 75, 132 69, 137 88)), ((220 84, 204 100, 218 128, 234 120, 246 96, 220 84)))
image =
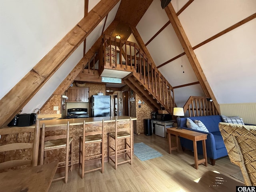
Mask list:
POLYGON ((100 170, 104 172, 104 120, 100 123, 96 122, 85 122, 83 124, 83 136, 80 137, 80 155, 79 164, 82 168, 82 178, 84 173, 91 172, 94 170, 100 170), (93 150, 92 154, 86 153, 85 147, 90 144, 100 143, 100 153, 95 154, 96 149, 93 150), (92 168, 84 170, 86 162, 101 160, 101 166, 98 168, 92 168))

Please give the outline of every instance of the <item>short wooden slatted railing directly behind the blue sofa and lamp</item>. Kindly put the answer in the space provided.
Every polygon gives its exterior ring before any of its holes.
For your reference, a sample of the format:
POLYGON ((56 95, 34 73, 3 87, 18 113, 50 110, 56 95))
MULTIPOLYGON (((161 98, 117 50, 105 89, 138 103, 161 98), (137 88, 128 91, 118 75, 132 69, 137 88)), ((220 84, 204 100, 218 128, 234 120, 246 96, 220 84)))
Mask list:
POLYGON ((184 113, 188 111, 190 117, 218 115, 214 103, 210 101, 210 98, 204 96, 190 96, 183 109, 184 113))

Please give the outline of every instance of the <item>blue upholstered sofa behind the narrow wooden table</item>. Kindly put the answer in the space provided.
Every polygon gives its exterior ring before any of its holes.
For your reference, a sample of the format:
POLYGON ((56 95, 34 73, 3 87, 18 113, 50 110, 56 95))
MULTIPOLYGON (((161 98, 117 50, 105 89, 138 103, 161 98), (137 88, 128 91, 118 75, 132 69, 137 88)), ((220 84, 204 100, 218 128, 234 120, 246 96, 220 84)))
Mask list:
MULTIPOLYGON (((193 121, 200 120, 209 131, 209 132, 202 132, 199 130, 187 128, 186 126, 187 117, 181 118, 180 126, 182 128, 207 134, 206 152, 207 152, 207 157, 210 158, 212 165, 215 164, 216 159, 228 155, 223 138, 219 130, 219 122, 222 122, 222 118, 220 115, 197 116, 197 117, 189 117, 189 118, 193 121)), ((193 142, 191 140, 180 137, 180 144, 183 149, 186 148, 188 150, 193 151, 193 142)), ((202 141, 197 142, 197 151, 198 151, 198 154, 203 154, 202 141)))

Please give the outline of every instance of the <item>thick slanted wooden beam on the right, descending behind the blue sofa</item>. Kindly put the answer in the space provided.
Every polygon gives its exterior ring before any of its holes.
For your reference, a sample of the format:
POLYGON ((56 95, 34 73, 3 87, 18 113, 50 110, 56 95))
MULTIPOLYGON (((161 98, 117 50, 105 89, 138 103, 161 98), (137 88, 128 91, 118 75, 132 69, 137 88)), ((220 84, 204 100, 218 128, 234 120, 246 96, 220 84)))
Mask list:
POLYGON ((180 43, 182 44, 182 47, 186 53, 186 56, 188 57, 188 60, 202 86, 202 89, 204 90, 204 93, 207 97, 212 98, 214 105, 216 107, 216 110, 220 114, 220 106, 214 96, 214 93, 212 92, 212 89, 210 88, 210 85, 206 79, 206 76, 202 70, 202 67, 200 66, 200 63, 198 59, 196 58, 196 54, 194 53, 194 50, 188 40, 188 37, 186 36, 186 33, 180 23, 180 20, 178 19, 176 12, 172 6, 172 4, 168 4, 166 8, 164 8, 166 11, 166 14, 174 28, 174 31, 176 32, 178 39, 180 40, 180 43))

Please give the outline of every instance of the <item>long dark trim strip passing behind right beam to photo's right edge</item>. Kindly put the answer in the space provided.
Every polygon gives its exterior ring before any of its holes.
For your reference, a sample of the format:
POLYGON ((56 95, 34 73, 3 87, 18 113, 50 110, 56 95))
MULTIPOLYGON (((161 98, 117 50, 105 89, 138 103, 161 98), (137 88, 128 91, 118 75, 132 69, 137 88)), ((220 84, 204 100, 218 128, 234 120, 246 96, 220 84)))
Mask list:
MULTIPOLYGON (((212 40, 214 40, 214 39, 216 39, 216 38, 218 38, 218 37, 224 35, 224 34, 227 33, 227 32, 230 32, 231 30, 233 30, 233 29, 235 29, 235 28, 237 28, 237 27, 239 27, 239 26, 245 24, 246 22, 248 22, 248 21, 250 21, 250 20, 252 20, 252 19, 254 19, 254 18, 256 18, 256 13, 255 13, 255 14, 252 14, 251 16, 245 18, 244 20, 242 20, 242 21, 240 21, 240 22, 238 22, 238 23, 236 23, 236 24, 230 26, 229 28, 226 28, 225 30, 223 30, 223 31, 221 31, 221 32, 219 32, 219 33, 217 33, 216 35, 214 35, 214 36, 212 36, 212 37, 206 39, 205 41, 201 42, 200 44, 194 46, 192 49, 195 50, 195 49, 199 48, 200 46, 202 46, 202 45, 204 45, 204 44, 206 44, 206 43, 208 43, 208 42, 210 42, 210 41, 212 41, 212 40)), ((172 61, 174 61, 174 60, 176 60, 176 59, 178 59, 178 58, 180 58, 180 57, 183 56, 183 55, 185 55, 185 52, 183 52, 182 54, 179 54, 179 55, 177 55, 176 57, 174 57, 174 58, 172 58, 172 59, 170 59, 170 60, 164 62, 163 64, 157 66, 157 68, 160 68, 160 67, 162 67, 162 66, 164 66, 164 65, 166 65, 166 64, 168 64, 168 63, 170 63, 170 62, 172 62, 172 61)))

